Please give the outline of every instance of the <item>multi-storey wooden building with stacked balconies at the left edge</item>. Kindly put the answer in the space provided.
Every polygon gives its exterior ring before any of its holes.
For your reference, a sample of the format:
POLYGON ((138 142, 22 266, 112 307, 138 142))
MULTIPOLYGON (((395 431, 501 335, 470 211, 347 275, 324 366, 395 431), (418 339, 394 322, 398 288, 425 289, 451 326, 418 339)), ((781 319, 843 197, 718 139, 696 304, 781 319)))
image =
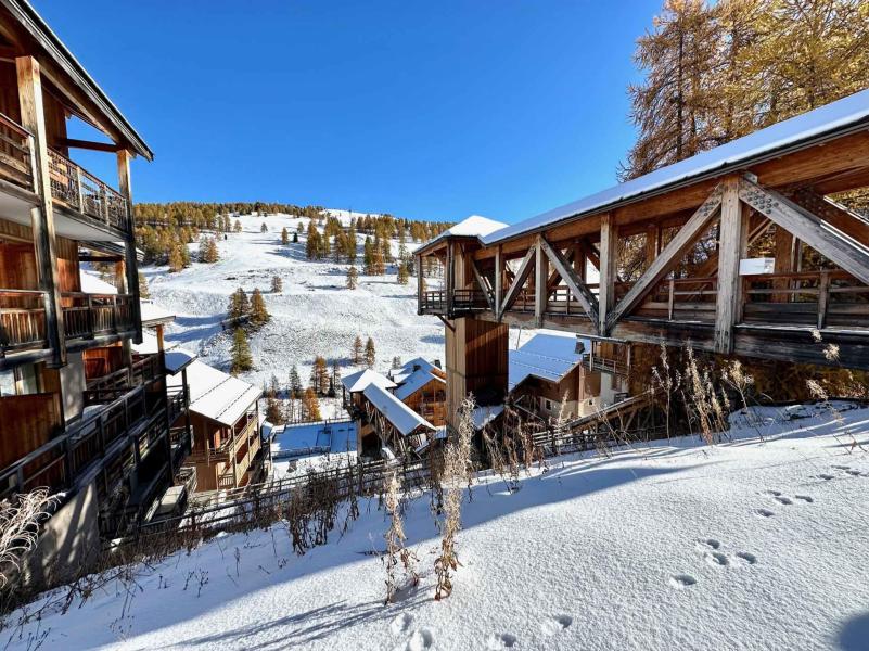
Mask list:
POLYGON ((0 0, 0 499, 48 487, 46 563, 148 519, 180 467, 186 408, 141 342, 130 159, 153 154, 24 0, 0 0), (69 138, 80 120, 100 141, 69 138), (112 156, 106 182, 74 152, 112 156), (114 270, 89 289, 82 263, 114 270))

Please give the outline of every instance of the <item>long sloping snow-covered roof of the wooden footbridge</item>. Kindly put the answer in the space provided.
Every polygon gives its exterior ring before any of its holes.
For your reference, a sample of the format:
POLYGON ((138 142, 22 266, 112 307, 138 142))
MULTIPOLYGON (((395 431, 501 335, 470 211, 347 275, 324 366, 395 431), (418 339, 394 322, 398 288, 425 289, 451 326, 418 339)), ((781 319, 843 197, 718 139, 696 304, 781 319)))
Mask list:
POLYGON ((859 128, 867 123, 869 123, 869 89, 519 224, 483 233, 480 240, 483 244, 489 245, 538 230, 562 219, 610 209, 616 204, 636 200, 640 195, 659 192, 703 176, 723 174, 726 169, 744 167, 771 155, 781 155, 783 150, 806 146, 825 138, 859 128))

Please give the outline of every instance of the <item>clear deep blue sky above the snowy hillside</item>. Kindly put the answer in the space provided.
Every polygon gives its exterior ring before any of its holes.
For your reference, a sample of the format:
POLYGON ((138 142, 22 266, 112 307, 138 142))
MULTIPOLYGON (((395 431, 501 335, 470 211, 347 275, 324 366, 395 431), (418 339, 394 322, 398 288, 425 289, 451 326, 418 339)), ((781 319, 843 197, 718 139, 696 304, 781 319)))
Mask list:
POLYGON ((34 4, 154 150, 136 201, 516 221, 615 181, 661 2, 34 4))

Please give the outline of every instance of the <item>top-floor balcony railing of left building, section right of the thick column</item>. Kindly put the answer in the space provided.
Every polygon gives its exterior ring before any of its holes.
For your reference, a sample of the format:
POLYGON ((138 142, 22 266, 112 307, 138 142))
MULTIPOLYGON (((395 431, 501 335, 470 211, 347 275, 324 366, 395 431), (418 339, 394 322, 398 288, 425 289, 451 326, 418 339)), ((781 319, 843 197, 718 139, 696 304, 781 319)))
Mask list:
POLYGON ((130 228, 127 200, 52 149, 49 150, 49 175, 54 201, 122 232, 130 228))

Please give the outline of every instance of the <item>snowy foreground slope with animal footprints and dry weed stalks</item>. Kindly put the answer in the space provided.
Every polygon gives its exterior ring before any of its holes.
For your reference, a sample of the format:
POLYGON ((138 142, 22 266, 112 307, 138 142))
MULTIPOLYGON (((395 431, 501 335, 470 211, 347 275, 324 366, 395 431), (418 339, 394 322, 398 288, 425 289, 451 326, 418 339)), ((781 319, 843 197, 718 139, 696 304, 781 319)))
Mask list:
POLYGON ((482 477, 445 601, 423 496, 405 525, 421 583, 383 605, 373 500, 304 557, 274 526, 141 567, 131 589, 43 616, 43 648, 866 649, 869 409, 756 414, 713 447, 552 460, 512 494, 482 477))

